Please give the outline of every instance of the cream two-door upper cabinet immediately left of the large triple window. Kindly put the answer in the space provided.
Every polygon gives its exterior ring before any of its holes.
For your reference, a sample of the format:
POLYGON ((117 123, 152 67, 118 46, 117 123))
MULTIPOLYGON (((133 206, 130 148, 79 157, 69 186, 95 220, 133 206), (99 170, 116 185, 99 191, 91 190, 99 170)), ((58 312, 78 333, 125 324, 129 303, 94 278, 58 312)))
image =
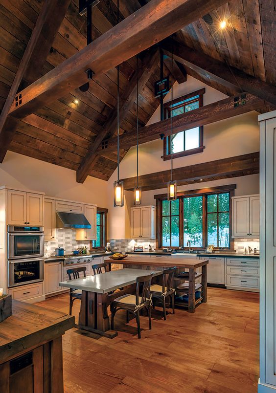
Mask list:
POLYGON ((131 237, 155 239, 155 206, 131 208, 131 237))

